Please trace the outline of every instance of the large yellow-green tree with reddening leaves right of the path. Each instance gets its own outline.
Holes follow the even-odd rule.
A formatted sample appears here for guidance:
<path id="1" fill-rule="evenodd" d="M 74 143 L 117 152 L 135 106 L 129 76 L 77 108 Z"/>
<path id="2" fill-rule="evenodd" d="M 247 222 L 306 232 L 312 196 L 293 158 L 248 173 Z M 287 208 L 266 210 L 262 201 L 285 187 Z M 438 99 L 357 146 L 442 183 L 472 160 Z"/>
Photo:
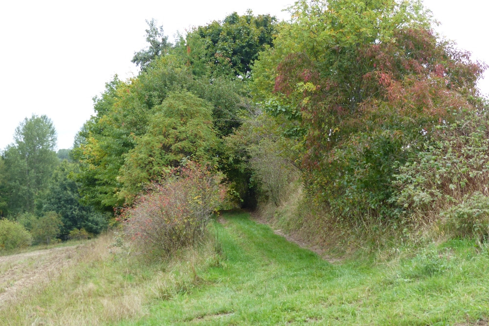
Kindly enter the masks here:
<path id="1" fill-rule="evenodd" d="M 417 0 L 301 0 L 290 10 L 255 63 L 254 93 L 302 129 L 311 195 L 346 219 L 387 218 L 397 166 L 453 120 L 447 109 L 478 105 L 485 65 L 439 41 Z"/>

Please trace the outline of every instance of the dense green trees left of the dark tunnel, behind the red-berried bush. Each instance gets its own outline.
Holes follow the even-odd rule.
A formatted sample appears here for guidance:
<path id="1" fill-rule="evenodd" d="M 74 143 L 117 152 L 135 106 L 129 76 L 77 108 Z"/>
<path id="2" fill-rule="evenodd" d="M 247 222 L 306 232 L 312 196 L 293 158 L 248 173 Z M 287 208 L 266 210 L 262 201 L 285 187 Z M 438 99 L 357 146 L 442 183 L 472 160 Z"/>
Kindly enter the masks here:
<path id="1" fill-rule="evenodd" d="M 237 76 L 271 45 L 274 24 L 270 16 L 234 13 L 165 47 L 136 78 L 108 83 L 74 148 L 84 201 L 111 210 L 183 158 L 224 168 L 221 139 L 250 107 Z M 148 33 L 152 39 L 156 30 Z"/>

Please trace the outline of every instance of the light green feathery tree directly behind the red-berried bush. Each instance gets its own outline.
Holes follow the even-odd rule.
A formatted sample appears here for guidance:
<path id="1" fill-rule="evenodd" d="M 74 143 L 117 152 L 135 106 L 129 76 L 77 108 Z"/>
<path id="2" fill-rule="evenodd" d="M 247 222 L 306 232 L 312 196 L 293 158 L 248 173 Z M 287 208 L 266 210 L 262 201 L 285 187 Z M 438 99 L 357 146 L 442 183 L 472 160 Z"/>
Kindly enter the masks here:
<path id="1" fill-rule="evenodd" d="M 148 131 L 125 155 L 119 180 L 126 201 L 144 184 L 157 181 L 183 159 L 216 161 L 218 138 L 212 127 L 212 105 L 189 92 L 171 93 L 150 118 Z"/>

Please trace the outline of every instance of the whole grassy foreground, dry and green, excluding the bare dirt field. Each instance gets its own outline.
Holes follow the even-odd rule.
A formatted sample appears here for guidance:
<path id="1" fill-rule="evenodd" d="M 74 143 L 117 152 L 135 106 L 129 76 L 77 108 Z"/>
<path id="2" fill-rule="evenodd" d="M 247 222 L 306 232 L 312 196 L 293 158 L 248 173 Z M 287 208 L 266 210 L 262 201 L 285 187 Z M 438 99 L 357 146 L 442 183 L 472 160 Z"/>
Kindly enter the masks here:
<path id="1" fill-rule="evenodd" d="M 487 325 L 489 246 L 330 264 L 247 213 L 223 218 L 206 246 L 173 262 L 111 253 L 109 236 L 81 245 L 59 276 L 0 308 L 0 324 Z"/>

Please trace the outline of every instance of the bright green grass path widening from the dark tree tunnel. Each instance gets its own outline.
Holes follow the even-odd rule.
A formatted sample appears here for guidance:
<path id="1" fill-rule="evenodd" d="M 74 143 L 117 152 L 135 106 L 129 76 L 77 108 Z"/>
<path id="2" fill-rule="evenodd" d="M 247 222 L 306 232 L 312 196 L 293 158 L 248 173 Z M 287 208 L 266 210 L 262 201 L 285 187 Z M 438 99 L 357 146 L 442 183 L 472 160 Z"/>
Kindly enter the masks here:
<path id="1" fill-rule="evenodd" d="M 222 264 L 120 325 L 487 325 L 489 254 L 470 242 L 332 265 L 247 213 L 223 217 Z"/>

